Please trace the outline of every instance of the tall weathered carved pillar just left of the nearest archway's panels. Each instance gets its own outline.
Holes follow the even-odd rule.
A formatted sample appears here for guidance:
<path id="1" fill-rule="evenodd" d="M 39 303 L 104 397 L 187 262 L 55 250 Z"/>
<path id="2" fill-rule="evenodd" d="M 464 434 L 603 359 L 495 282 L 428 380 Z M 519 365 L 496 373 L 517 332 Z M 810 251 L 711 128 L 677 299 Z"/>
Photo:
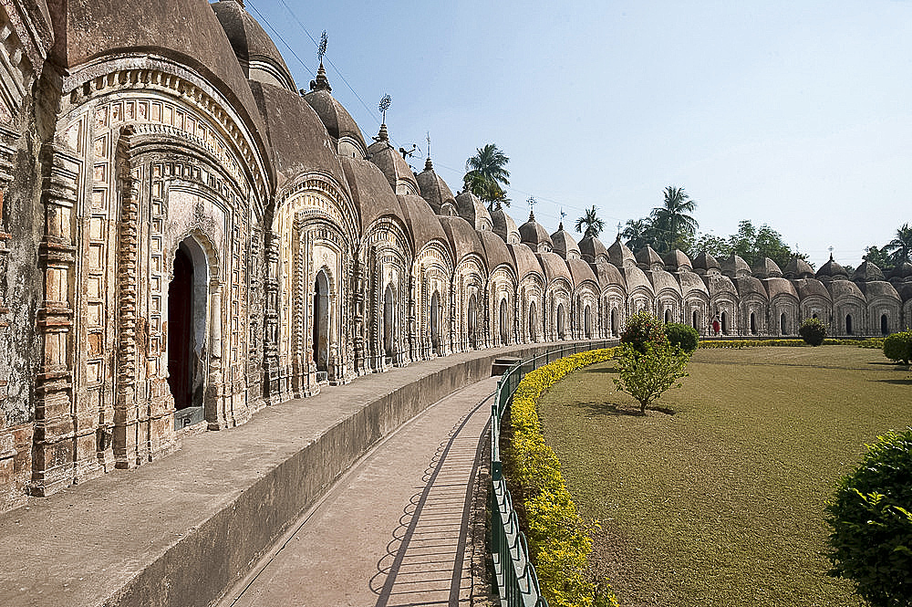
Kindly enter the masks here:
<path id="1" fill-rule="evenodd" d="M 73 402 L 73 269 L 76 246 L 72 220 L 78 191 L 78 159 L 52 144 L 42 149 L 45 235 L 38 247 L 44 300 L 37 310 L 39 365 L 35 377 L 35 434 L 29 493 L 47 496 L 74 480 L 74 462 L 96 460 L 92 414 Z M 86 413 L 83 415 L 83 413 Z M 80 428 L 80 424 L 83 426 Z M 88 434 L 90 433 L 90 435 Z"/>

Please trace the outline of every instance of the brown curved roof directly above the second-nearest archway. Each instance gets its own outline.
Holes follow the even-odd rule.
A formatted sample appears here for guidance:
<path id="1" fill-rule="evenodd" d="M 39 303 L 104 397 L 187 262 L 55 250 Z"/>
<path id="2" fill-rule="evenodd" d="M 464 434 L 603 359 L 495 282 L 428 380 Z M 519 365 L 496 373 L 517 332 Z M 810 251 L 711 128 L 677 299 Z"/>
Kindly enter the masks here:
<path id="1" fill-rule="evenodd" d="M 297 93 L 271 84 L 250 83 L 263 108 L 265 131 L 272 145 L 275 170 L 291 180 L 302 173 L 325 173 L 346 183 L 338 156 L 329 145 L 323 123 Z M 309 145 L 301 145 L 301 141 Z"/>

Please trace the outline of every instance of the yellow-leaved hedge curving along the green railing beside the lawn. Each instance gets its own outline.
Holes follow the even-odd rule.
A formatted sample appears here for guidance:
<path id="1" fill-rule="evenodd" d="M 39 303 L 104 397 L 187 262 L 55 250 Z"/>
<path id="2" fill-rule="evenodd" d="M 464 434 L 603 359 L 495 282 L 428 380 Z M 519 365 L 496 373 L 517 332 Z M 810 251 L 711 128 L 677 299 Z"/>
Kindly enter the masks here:
<path id="1" fill-rule="evenodd" d="M 567 373 L 614 355 L 615 349 L 607 348 L 554 361 L 528 373 L 513 394 L 513 441 L 503 455 L 513 480 L 522 487 L 529 549 L 542 593 L 552 607 L 617 606 L 617 597 L 588 573 L 592 540 L 566 488 L 557 455 L 544 443 L 536 405 Z"/>

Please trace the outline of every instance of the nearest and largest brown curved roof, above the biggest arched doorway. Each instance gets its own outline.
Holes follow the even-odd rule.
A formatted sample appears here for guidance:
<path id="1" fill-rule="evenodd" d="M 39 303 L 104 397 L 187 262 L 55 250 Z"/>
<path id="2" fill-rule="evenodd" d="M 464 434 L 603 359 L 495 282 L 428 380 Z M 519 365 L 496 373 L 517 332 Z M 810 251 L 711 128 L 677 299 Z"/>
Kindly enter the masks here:
<path id="1" fill-rule="evenodd" d="M 122 57 L 128 51 L 153 51 L 198 72 L 249 122 L 254 137 L 263 129 L 260 112 L 209 3 L 200 0 L 92 0 L 54 3 L 57 26 L 50 59 L 76 68 L 96 58 Z M 68 93 L 69 91 L 64 91 Z M 269 150 L 265 141 L 266 162 Z"/>

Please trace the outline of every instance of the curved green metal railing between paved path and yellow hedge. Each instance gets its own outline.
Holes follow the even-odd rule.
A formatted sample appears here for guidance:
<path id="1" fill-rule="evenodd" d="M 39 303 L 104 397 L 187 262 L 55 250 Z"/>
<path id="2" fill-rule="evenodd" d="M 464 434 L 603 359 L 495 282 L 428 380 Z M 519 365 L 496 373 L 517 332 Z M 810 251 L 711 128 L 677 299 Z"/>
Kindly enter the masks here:
<path id="1" fill-rule="evenodd" d="M 491 405 L 491 491 L 488 508 L 491 513 L 491 535 L 488 549 L 494 563 L 497 589 L 505 607 L 547 607 L 548 602 L 539 589 L 538 576 L 529 560 L 525 534 L 519 529 L 519 519 L 513 509 L 513 500 L 503 480 L 500 438 L 501 417 L 513 398 L 513 392 L 526 373 L 570 354 L 607 348 L 607 340 L 585 341 L 572 346 L 545 351 L 527 361 L 520 361 L 503 373 L 497 382 L 494 402 Z"/>

